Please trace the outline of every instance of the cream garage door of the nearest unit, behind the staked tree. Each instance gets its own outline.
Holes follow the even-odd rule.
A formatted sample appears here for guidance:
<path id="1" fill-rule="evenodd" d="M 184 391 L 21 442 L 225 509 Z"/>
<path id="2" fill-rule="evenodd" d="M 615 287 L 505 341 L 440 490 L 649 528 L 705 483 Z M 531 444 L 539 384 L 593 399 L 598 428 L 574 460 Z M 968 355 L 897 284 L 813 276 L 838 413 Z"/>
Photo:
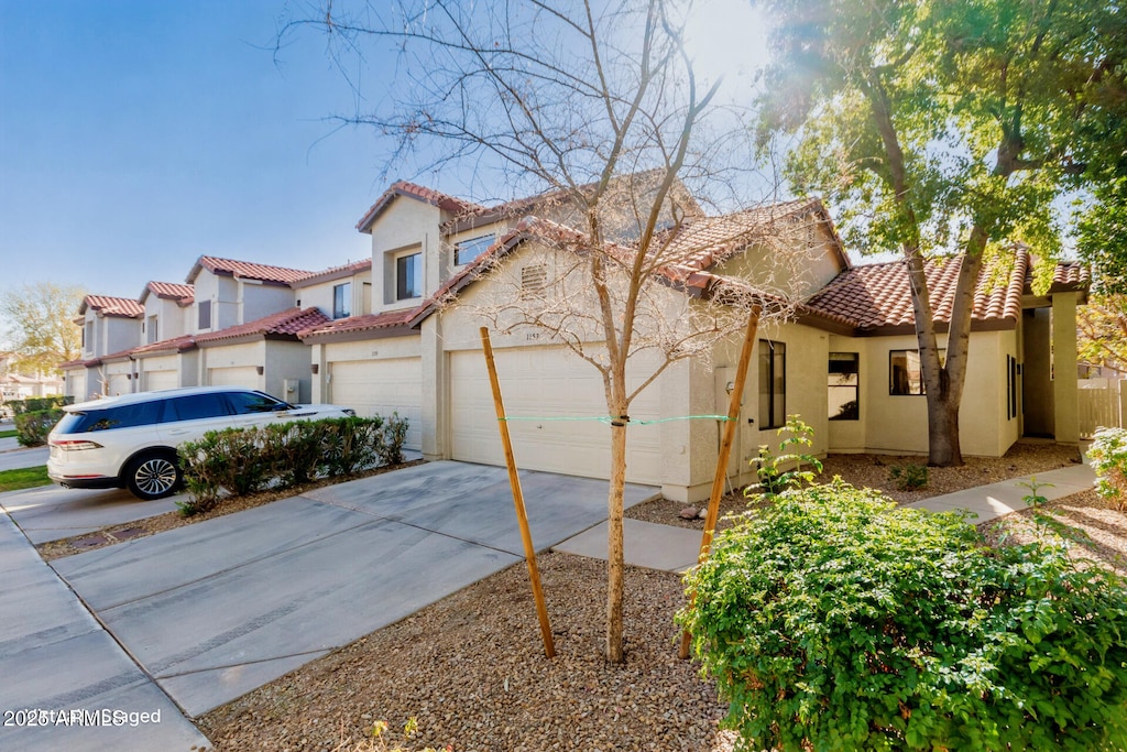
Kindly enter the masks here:
<path id="1" fill-rule="evenodd" d="M 495 351 L 516 465 L 589 478 L 610 477 L 611 428 L 598 421 L 559 418 L 606 415 L 598 372 L 564 347 Z M 504 465 L 497 413 L 480 352 L 451 354 L 451 454 L 455 460 Z M 658 417 L 660 396 L 651 384 L 630 409 L 632 419 Z M 556 418 L 556 419 L 553 419 Z M 627 479 L 662 481 L 660 426 L 636 425 L 627 434 Z"/>

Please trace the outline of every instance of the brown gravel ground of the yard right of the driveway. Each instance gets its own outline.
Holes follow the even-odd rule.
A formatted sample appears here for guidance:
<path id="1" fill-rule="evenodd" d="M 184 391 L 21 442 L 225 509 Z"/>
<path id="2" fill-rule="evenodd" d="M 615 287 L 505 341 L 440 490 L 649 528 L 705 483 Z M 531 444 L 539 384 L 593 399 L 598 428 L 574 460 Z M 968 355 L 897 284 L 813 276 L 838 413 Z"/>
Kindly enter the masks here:
<path id="1" fill-rule="evenodd" d="M 835 455 L 826 475 L 908 502 L 1074 460 L 1075 449 L 1018 444 L 1001 459 L 931 468 L 928 487 L 911 493 L 889 488 L 888 468 L 920 458 Z M 745 505 L 743 497 L 725 499 L 726 511 Z M 1100 541 L 1093 557 L 1127 560 L 1127 520 L 1094 494 L 1048 506 Z M 628 515 L 702 528 L 681 520 L 682 507 L 656 501 Z M 986 525 L 995 537 L 1032 530 L 1028 513 Z M 458 752 L 733 749 L 730 734 L 718 731 L 724 708 L 711 683 L 695 663 L 676 657 L 672 620 L 684 599 L 676 575 L 628 568 L 627 663 L 614 666 L 602 658 L 605 564 L 549 554 L 540 568 L 554 658 L 543 655 L 527 570 L 518 565 L 213 710 L 199 728 L 223 752 L 382 751 L 397 743 Z M 419 731 L 406 742 L 401 733 L 378 742 L 366 736 L 379 720 L 396 732 L 411 717 Z"/>

